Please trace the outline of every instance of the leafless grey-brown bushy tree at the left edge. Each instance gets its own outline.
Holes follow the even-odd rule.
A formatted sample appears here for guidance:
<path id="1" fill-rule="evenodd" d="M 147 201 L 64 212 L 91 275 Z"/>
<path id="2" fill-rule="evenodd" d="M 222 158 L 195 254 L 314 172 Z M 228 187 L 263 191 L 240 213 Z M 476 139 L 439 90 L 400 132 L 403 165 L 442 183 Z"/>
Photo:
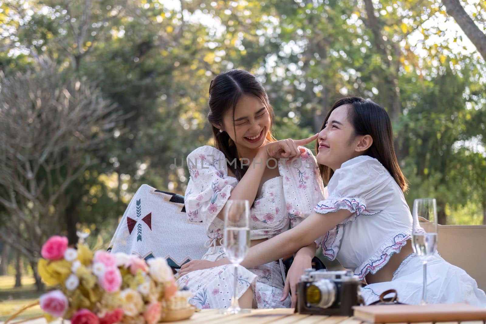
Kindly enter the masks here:
<path id="1" fill-rule="evenodd" d="M 0 72 L 0 82 L 0 204 L 12 215 L 4 240 L 32 263 L 61 230 L 59 198 L 98 162 L 122 117 L 86 79 L 65 81 L 53 67 Z"/>

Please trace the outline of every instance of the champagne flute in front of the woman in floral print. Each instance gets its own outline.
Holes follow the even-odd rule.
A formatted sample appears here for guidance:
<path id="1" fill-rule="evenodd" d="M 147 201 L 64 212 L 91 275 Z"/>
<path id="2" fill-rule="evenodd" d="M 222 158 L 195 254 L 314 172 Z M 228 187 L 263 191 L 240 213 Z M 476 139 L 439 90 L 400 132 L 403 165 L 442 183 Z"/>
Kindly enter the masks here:
<path id="1" fill-rule="evenodd" d="M 250 247 L 250 206 L 247 200 L 229 200 L 225 206 L 224 246 L 226 257 L 235 267 L 235 281 L 231 306 L 225 314 L 247 313 L 238 303 L 238 266 L 243 261 Z"/>

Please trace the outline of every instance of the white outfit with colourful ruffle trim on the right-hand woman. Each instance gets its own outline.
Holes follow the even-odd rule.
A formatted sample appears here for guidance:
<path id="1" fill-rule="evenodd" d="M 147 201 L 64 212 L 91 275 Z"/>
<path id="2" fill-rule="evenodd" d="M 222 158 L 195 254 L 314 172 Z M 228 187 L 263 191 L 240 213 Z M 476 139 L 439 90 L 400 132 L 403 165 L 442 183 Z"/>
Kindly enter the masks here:
<path id="1" fill-rule="evenodd" d="M 347 209 L 352 215 L 322 238 L 324 256 L 337 258 L 360 279 L 377 273 L 412 237 L 413 219 L 403 192 L 382 164 L 370 156 L 343 163 L 327 189 L 329 196 L 314 210 L 327 214 Z M 464 270 L 438 254 L 428 259 L 427 267 L 431 304 L 467 302 L 486 307 L 485 292 Z M 412 253 L 400 264 L 392 281 L 367 285 L 361 294 L 367 305 L 377 301 L 383 291 L 395 289 L 400 302 L 420 304 L 422 279 L 422 261 Z"/>

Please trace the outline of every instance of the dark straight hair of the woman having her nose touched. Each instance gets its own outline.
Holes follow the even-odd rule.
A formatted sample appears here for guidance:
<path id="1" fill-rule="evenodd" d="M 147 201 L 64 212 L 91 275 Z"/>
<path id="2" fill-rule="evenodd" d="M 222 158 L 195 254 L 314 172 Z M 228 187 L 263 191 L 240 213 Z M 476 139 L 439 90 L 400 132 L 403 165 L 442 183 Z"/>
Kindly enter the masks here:
<path id="1" fill-rule="evenodd" d="M 355 136 L 369 135 L 373 138 L 373 144 L 364 153 L 374 157 L 390 172 L 402 191 L 408 188 L 407 179 L 401 173 L 400 166 L 393 147 L 393 131 L 390 118 L 385 109 L 378 103 L 361 97 L 347 97 L 339 99 L 332 105 L 326 119 L 321 126 L 321 131 L 328 122 L 331 112 L 339 106 L 348 104 L 352 108 L 348 109 L 347 119 L 354 128 Z M 316 142 L 316 152 L 319 143 Z M 328 166 L 319 165 L 324 183 L 329 183 L 334 171 Z"/>

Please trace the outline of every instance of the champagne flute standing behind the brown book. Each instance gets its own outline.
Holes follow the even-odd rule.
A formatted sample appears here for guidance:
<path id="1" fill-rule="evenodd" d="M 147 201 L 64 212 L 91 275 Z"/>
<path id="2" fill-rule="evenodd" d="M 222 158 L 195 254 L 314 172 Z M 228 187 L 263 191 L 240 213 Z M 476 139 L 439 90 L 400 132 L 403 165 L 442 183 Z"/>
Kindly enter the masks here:
<path id="1" fill-rule="evenodd" d="M 422 227 L 419 217 L 425 219 Z M 427 297 L 427 259 L 437 248 L 437 206 L 435 199 L 416 199 L 413 209 L 412 247 L 423 262 L 422 305 L 429 303 Z"/>

